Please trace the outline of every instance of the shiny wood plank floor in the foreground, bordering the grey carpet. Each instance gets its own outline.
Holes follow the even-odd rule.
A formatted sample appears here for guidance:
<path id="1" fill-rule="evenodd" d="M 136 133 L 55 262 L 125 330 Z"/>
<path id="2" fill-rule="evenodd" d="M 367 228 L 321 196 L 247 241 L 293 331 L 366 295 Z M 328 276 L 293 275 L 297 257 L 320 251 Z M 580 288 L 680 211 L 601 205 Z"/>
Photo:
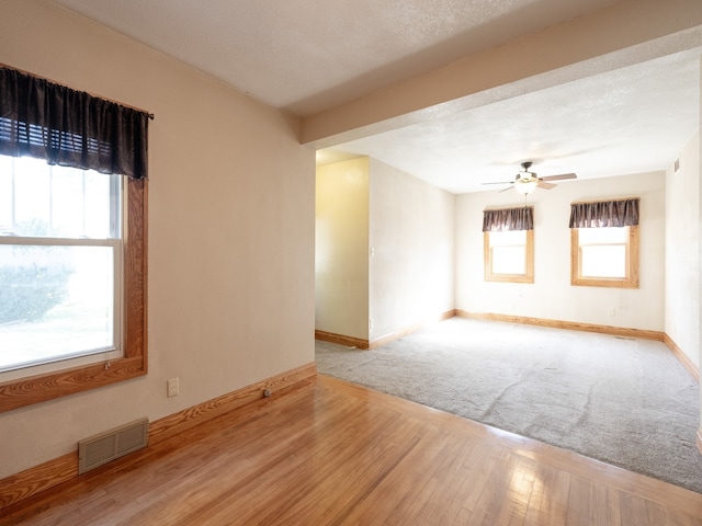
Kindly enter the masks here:
<path id="1" fill-rule="evenodd" d="M 702 495 L 322 375 L 0 525 L 700 525 Z"/>

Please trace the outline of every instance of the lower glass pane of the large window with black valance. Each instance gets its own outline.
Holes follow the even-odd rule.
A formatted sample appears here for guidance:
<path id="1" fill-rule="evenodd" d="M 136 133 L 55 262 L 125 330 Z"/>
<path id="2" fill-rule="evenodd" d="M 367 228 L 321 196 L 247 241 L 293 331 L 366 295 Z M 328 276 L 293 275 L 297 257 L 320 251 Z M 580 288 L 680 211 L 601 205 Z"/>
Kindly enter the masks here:
<path id="1" fill-rule="evenodd" d="M 114 250 L 0 244 L 0 370 L 114 348 Z"/>

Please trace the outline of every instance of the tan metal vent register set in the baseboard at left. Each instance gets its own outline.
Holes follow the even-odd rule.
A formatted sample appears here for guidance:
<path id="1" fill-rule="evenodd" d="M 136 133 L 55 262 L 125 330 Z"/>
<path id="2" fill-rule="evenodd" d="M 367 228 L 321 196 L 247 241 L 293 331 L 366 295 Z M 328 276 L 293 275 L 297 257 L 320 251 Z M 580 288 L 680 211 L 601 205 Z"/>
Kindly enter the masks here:
<path id="1" fill-rule="evenodd" d="M 78 473 L 146 447 L 149 419 L 137 420 L 78 443 Z"/>

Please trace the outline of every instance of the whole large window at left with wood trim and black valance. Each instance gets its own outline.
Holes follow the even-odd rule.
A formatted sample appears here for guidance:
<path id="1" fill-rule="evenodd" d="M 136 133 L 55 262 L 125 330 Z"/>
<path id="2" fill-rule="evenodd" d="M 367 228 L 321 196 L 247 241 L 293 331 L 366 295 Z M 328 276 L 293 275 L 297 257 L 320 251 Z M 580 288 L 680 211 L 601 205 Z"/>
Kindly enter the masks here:
<path id="1" fill-rule="evenodd" d="M 146 374 L 150 116 L 1 67 L 0 96 L 9 411 Z"/>

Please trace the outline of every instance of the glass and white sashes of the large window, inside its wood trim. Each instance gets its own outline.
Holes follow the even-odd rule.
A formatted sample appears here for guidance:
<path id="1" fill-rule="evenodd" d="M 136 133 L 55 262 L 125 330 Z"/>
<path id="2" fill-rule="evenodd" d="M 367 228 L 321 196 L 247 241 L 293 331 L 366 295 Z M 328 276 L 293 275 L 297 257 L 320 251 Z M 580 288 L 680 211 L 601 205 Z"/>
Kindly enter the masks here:
<path id="1" fill-rule="evenodd" d="M 122 356 L 121 183 L 0 156 L 3 380 Z"/>

